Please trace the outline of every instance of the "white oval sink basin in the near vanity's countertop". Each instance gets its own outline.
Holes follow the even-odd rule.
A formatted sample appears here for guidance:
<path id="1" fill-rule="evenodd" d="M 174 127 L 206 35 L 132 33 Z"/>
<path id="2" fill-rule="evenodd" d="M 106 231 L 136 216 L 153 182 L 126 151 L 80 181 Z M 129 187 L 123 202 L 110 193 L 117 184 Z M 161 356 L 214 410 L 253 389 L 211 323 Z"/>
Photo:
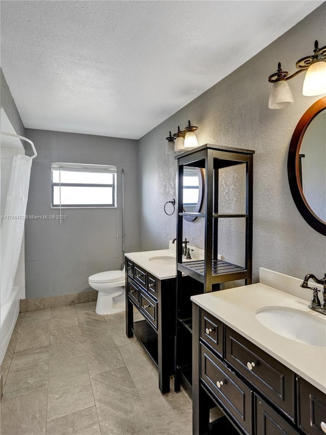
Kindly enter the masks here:
<path id="1" fill-rule="evenodd" d="M 256 319 L 282 337 L 310 344 L 326 346 L 326 321 L 287 307 L 264 307 L 256 312 Z"/>

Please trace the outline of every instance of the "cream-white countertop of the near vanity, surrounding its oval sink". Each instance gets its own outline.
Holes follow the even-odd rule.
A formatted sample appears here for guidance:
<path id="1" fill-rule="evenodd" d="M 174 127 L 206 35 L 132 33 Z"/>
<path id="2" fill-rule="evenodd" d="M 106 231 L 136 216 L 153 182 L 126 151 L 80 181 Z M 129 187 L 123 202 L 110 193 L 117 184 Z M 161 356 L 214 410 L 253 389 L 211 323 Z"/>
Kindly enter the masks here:
<path id="1" fill-rule="evenodd" d="M 192 296 L 191 300 L 267 354 L 326 393 L 326 347 L 284 338 L 264 327 L 255 313 L 264 307 L 288 307 L 317 316 L 307 301 L 258 283 Z"/>

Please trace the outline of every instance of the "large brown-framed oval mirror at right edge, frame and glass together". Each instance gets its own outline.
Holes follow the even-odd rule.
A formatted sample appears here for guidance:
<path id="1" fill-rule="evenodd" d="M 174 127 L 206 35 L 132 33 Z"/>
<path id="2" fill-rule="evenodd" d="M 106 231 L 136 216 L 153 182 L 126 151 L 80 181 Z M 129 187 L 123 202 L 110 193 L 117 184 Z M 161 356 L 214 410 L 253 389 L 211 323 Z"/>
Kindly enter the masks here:
<path id="1" fill-rule="evenodd" d="M 326 97 L 309 107 L 295 127 L 287 169 L 297 209 L 312 228 L 326 235 Z"/>

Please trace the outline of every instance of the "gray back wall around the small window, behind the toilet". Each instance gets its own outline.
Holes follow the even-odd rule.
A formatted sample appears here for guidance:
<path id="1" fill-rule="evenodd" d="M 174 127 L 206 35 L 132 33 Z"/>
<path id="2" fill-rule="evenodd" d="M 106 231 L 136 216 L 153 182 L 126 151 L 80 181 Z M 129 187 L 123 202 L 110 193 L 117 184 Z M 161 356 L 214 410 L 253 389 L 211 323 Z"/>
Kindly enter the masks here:
<path id="1" fill-rule="evenodd" d="M 125 172 L 125 250 L 139 249 L 137 141 L 26 129 L 34 142 L 28 215 L 59 214 L 50 208 L 51 162 L 117 166 L 117 209 L 62 209 L 62 221 L 25 222 L 26 298 L 89 289 L 88 277 L 122 265 L 121 169 Z M 118 234 L 116 239 L 116 223 Z M 117 254 L 119 258 L 117 257 Z"/>

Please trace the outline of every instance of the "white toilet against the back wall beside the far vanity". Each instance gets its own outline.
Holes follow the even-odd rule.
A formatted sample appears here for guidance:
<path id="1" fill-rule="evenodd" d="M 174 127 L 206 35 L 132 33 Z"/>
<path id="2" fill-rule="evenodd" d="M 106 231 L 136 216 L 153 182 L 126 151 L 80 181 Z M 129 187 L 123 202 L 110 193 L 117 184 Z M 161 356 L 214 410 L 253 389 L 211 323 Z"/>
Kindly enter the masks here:
<path id="1" fill-rule="evenodd" d="M 90 287 L 98 291 L 95 309 L 97 314 L 125 311 L 125 268 L 92 275 L 88 282 Z"/>

